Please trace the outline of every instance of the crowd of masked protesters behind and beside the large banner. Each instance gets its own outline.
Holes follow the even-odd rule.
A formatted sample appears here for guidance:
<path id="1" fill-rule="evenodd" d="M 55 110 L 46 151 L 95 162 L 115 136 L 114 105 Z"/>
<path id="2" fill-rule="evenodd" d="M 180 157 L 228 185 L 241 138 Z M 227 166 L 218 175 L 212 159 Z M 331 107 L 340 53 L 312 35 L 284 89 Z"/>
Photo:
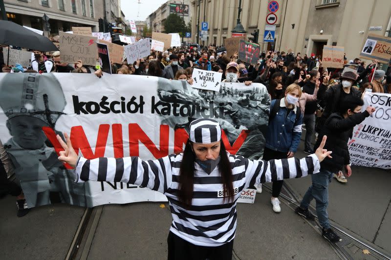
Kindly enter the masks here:
<path id="1" fill-rule="evenodd" d="M 351 174 L 350 164 L 347 160 L 348 137 L 351 135 L 352 127 L 373 112 L 372 109 L 367 109 L 366 112 L 360 113 L 363 105 L 362 96 L 365 92 L 391 93 L 390 66 L 386 72 L 377 69 L 377 60 L 366 65 L 359 58 L 349 61 L 344 58 L 345 66 L 349 69 L 331 69 L 323 67 L 321 57 L 317 57 L 315 54 L 307 57 L 305 54 L 284 51 L 261 52 L 258 62 L 251 65 L 239 60 L 238 53 L 228 56 L 226 51 L 223 51 L 224 48 L 221 47 L 223 46 L 201 48 L 194 44 L 173 47 L 164 52 L 152 50 L 150 56 L 134 63 L 130 64 L 126 60 L 121 64 L 113 63 L 112 73 L 185 80 L 192 85 L 192 73 L 197 68 L 221 72 L 224 82 L 242 82 L 245 85 L 264 84 L 272 100 L 268 133 L 265 137 L 264 160 L 293 157 L 298 150 L 302 129 L 305 129 L 304 152 L 306 154 L 313 154 L 319 146 L 320 139 L 316 139 L 316 136 L 323 136 L 325 133 L 330 136 L 334 133 L 340 134 L 330 138 L 328 143 L 326 142 L 326 146 L 327 149 L 335 152 L 334 147 L 330 144 L 330 142 L 335 142 L 333 144 L 337 149 L 336 154 L 343 158 L 342 162 L 336 159 L 331 161 L 337 161 L 334 166 L 338 165 L 338 167 L 329 167 L 330 161 L 327 159 L 321 164 L 326 172 L 324 174 L 326 179 L 320 180 L 317 174 L 316 178 L 318 179 L 314 180 L 313 178 L 313 185 L 307 191 L 305 201 L 296 209 L 298 214 L 313 219 L 307 208 L 309 201 L 315 198 L 318 218 L 323 221 L 321 222 L 324 228 L 323 236 L 332 242 L 339 241 L 338 235 L 330 229 L 326 220 L 328 199 L 321 201 L 318 198 L 322 198 L 327 192 L 328 181 L 332 177 L 340 182 L 347 182 L 345 175 L 350 176 Z M 4 64 L 2 72 L 95 73 L 98 77 L 104 76 L 99 67 L 86 66 L 81 60 L 74 64 L 62 62 L 59 51 L 51 53 L 50 56 L 41 51 L 34 51 L 34 57 L 35 60 L 28 68 L 23 68 L 19 64 L 14 66 Z M 1 63 L 5 62 L 0 60 Z M 356 116 L 358 114 L 359 116 Z M 339 120 L 345 125 L 343 129 L 335 127 L 334 121 Z M 5 157 L 5 155 L 2 156 Z M 346 172 L 345 175 L 343 170 Z M 317 188 L 319 182 L 324 183 L 322 187 L 326 187 L 326 189 L 319 190 Z M 282 180 L 273 182 L 271 204 L 275 212 L 281 212 L 278 198 L 282 183 Z M 9 184 L 8 181 L 6 184 Z M 6 191 L 6 189 L 4 190 Z M 1 188 L 2 193 L 4 190 Z M 261 186 L 257 190 L 261 193 Z M 18 205 L 23 211 L 21 191 L 12 186 L 11 194 L 18 196 Z M 25 213 L 24 207 L 23 214 Z"/>

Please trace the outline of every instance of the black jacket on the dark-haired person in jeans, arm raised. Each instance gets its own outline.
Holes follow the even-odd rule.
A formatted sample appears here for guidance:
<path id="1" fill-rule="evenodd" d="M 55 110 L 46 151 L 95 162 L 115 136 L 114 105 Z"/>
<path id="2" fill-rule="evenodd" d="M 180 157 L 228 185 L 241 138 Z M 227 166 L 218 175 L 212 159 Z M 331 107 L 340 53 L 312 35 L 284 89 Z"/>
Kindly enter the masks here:
<path id="1" fill-rule="evenodd" d="M 331 114 L 325 122 L 325 125 L 318 136 L 314 149 L 317 149 L 323 139 L 327 136 L 325 148 L 332 151 L 331 157 L 321 162 L 321 168 L 334 173 L 342 170 L 344 165 L 350 163 L 348 140 L 352 136 L 352 129 L 355 125 L 361 123 L 369 113 L 364 111 L 356 113 L 348 118 L 344 118 L 340 113 Z"/>

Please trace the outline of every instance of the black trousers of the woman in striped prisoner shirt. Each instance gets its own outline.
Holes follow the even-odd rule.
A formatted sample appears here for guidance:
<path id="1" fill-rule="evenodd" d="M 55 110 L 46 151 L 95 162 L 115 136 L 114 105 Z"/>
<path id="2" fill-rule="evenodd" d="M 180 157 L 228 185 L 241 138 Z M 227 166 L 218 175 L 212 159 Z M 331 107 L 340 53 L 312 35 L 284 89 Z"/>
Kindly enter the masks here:
<path id="1" fill-rule="evenodd" d="M 234 240 L 220 246 L 194 245 L 170 231 L 167 238 L 168 260 L 232 260 Z"/>

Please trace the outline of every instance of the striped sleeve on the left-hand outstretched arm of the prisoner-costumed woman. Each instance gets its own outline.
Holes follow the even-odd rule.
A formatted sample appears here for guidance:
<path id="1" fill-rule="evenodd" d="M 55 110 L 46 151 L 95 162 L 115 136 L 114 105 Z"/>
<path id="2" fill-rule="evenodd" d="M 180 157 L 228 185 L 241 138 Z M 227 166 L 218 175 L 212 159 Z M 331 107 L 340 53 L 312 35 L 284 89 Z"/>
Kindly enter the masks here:
<path id="1" fill-rule="evenodd" d="M 75 175 L 76 182 L 87 180 L 125 182 L 164 193 L 167 190 L 167 180 L 171 180 L 172 170 L 169 156 L 146 161 L 139 157 L 103 157 L 92 160 L 80 157 L 76 164 Z"/>

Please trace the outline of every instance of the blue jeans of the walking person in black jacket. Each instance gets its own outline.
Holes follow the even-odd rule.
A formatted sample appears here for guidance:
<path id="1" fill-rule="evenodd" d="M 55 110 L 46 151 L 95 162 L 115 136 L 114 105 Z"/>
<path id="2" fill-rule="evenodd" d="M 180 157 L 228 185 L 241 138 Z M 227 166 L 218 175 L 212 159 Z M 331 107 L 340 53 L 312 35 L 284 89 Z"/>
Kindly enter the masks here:
<path id="1" fill-rule="evenodd" d="M 331 171 L 323 170 L 317 174 L 312 174 L 312 185 L 309 186 L 307 192 L 304 194 L 300 207 L 307 209 L 312 199 L 316 200 L 316 214 L 320 225 L 324 229 L 330 228 L 328 221 L 327 206 L 328 206 L 328 183 L 331 182 L 333 173 Z"/>

